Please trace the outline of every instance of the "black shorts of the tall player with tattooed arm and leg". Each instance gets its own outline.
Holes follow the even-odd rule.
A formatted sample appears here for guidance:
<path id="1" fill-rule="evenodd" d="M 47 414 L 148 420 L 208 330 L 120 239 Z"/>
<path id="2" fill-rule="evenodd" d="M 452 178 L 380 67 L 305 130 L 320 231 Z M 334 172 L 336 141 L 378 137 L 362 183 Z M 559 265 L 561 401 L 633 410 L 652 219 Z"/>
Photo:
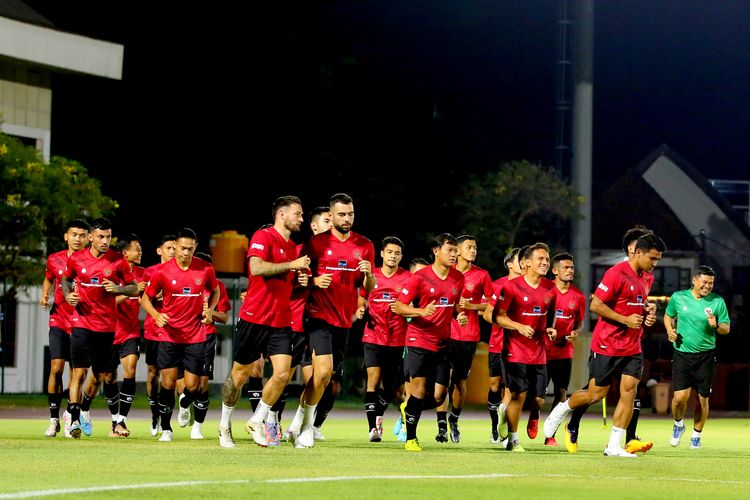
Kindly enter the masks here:
<path id="1" fill-rule="evenodd" d="M 240 320 L 234 335 L 234 362 L 249 365 L 261 356 L 292 355 L 292 330 L 289 327 L 257 325 Z"/>

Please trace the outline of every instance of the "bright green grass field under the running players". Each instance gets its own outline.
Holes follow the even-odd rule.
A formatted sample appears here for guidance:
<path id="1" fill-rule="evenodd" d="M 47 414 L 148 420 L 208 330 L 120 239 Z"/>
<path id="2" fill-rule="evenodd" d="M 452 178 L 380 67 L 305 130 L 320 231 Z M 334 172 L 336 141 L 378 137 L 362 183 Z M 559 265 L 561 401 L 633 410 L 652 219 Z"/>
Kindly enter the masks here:
<path id="1" fill-rule="evenodd" d="M 571 455 L 543 446 L 541 432 L 534 441 L 523 435 L 526 453 L 502 451 L 487 443 L 489 424 L 479 414 L 461 420 L 460 444 L 438 444 L 433 412 L 420 423 L 424 452 L 409 453 L 389 432 L 392 417 L 385 440 L 369 443 L 363 416 L 340 418 L 335 410 L 324 427 L 327 440 L 314 448 L 262 449 L 241 430 L 245 413 L 235 417 L 234 450 L 219 447 L 216 419 L 204 426 L 206 440 L 191 441 L 189 429 L 176 428 L 172 443 L 156 442 L 140 419 L 128 420 L 130 438 L 107 437 L 107 422 L 98 419 L 93 436 L 76 441 L 43 437 L 43 419 L 0 420 L 0 499 L 750 496 L 748 419 L 709 420 L 704 448 L 689 450 L 687 439 L 679 448 L 667 444 L 669 418 L 643 418 L 639 433 L 654 439 L 654 448 L 621 459 L 602 456 L 609 427 L 594 415 L 583 421 L 581 450 Z"/>

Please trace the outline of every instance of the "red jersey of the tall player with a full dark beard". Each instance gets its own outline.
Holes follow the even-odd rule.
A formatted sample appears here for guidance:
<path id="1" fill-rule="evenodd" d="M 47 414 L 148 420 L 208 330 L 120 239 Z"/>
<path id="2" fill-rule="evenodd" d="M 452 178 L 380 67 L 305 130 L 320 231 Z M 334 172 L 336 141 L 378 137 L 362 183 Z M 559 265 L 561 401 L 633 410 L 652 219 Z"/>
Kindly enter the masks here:
<path id="1" fill-rule="evenodd" d="M 306 313 L 339 328 L 351 328 L 357 311 L 357 288 L 362 286 L 364 274 L 359 261 L 370 262 L 375 269 L 375 247 L 364 236 L 353 231 L 341 241 L 332 231 L 316 234 L 302 247 L 302 254 L 310 257 L 313 276 L 331 274 L 328 288 L 313 286 L 307 300 Z"/>

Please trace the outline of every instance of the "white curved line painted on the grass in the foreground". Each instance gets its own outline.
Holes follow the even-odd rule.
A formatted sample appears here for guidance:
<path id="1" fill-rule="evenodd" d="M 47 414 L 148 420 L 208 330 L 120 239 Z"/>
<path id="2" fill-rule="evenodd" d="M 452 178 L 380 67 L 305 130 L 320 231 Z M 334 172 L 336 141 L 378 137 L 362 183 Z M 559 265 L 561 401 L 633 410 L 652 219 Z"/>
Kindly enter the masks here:
<path id="1" fill-rule="evenodd" d="M 121 491 L 121 490 L 140 490 L 149 488 L 173 488 L 175 486 L 205 486 L 214 484 L 280 484 L 280 483 L 320 483 L 334 481 L 365 481 L 365 480 L 401 480 L 401 479 L 507 479 L 512 477 L 529 477 L 529 478 L 568 478 L 568 479 L 600 479 L 600 480 L 651 480 L 651 481 L 673 481 L 684 483 L 703 483 L 703 484 L 739 484 L 750 485 L 750 481 L 731 481 L 724 479 L 694 479 L 681 477 L 613 477 L 613 476 L 585 476 L 576 474 L 466 474 L 466 475 L 391 475 L 391 476 L 323 476 L 323 477 L 291 477 L 280 479 L 234 479 L 225 481 L 180 481 L 172 483 L 144 483 L 144 484 L 120 484 L 111 486 L 92 486 L 89 488 L 67 488 L 54 490 L 32 490 L 17 491 L 14 493 L 0 493 L 0 499 L 4 498 L 33 498 L 45 497 L 52 495 L 74 495 L 77 493 L 94 493 L 101 491 Z"/>

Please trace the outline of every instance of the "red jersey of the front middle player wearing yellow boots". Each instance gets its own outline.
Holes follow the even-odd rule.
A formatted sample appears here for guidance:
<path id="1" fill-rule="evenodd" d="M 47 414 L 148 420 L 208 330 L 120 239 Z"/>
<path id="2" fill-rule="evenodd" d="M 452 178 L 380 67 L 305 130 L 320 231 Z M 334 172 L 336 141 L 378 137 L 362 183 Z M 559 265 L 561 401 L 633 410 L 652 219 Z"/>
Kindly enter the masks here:
<path id="1" fill-rule="evenodd" d="M 398 301 L 403 304 L 415 302 L 415 307 L 425 308 L 435 302 L 437 309 L 430 316 L 412 318 L 406 329 L 407 347 L 419 347 L 437 352 L 451 335 L 451 321 L 456 304 L 464 288 L 464 275 L 453 268 L 441 279 L 432 266 L 420 269 L 412 275 L 401 290 Z"/>

